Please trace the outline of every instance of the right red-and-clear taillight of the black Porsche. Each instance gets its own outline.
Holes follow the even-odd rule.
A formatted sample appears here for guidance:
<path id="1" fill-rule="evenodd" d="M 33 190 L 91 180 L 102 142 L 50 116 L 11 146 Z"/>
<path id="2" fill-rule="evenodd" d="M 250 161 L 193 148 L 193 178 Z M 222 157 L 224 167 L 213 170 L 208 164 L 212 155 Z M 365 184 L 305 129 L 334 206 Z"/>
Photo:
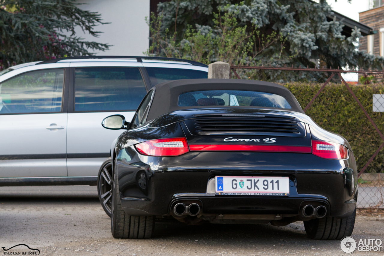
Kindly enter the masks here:
<path id="1" fill-rule="evenodd" d="M 312 154 L 328 159 L 346 159 L 348 157 L 348 149 L 339 143 L 313 140 Z"/>

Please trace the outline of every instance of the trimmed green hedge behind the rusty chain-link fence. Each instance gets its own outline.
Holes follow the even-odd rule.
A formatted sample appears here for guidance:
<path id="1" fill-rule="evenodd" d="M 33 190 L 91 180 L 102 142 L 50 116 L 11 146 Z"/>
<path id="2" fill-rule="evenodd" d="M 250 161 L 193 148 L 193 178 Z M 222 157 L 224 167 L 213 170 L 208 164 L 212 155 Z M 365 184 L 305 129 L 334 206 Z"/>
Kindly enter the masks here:
<path id="1" fill-rule="evenodd" d="M 321 87 L 321 84 L 318 83 L 295 82 L 283 85 L 295 95 L 303 109 Z M 372 111 L 372 94 L 384 94 L 384 86 L 351 85 L 351 88 L 379 130 L 384 133 L 384 114 Z M 322 128 L 338 133 L 349 141 L 358 170 L 361 170 L 383 143 L 371 122 L 343 84 L 328 84 L 306 114 Z M 384 172 L 384 150 L 381 150 L 374 158 L 366 172 Z"/>

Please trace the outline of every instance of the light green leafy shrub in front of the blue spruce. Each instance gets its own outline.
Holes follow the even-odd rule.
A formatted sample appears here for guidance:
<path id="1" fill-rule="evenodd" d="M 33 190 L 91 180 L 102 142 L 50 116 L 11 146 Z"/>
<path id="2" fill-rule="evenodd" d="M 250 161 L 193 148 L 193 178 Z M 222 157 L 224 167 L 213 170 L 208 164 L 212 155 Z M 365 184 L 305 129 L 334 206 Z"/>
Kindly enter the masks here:
<path id="1" fill-rule="evenodd" d="M 275 31 L 265 35 L 257 30 L 257 25 L 240 25 L 237 19 L 238 10 L 231 10 L 230 5 L 218 7 L 213 13 L 213 27 L 196 25 L 196 29 L 187 25 L 182 38 L 177 31 L 169 28 L 162 30 L 160 15 L 151 15 L 151 22 L 146 19 L 150 33 L 151 45 L 146 55 L 184 58 L 209 64 L 215 61 L 227 62 L 230 65 L 271 64 L 286 59 L 284 55 L 285 37 Z M 274 53 L 278 50 L 278 52 Z"/>

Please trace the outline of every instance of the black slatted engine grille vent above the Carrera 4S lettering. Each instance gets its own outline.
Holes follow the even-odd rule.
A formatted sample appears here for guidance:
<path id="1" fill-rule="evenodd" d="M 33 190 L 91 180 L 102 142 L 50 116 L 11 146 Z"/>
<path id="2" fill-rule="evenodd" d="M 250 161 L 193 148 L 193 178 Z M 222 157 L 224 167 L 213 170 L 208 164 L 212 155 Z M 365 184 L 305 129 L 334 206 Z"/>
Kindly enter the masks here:
<path id="1" fill-rule="evenodd" d="M 210 117 L 193 120 L 196 131 L 227 132 L 227 131 L 253 131 L 300 133 L 298 122 L 289 117 Z"/>

